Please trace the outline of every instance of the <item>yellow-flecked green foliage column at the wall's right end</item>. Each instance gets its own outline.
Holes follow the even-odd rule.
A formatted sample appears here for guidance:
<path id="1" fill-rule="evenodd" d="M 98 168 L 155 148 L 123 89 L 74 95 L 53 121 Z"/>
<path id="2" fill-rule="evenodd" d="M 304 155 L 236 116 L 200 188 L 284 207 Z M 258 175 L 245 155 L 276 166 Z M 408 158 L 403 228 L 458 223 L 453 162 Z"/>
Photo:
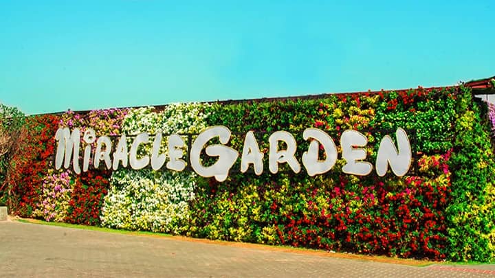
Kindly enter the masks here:
<path id="1" fill-rule="evenodd" d="M 495 258 L 495 162 L 489 123 L 461 87 L 456 107 L 450 167 L 452 197 L 446 211 L 449 257 L 454 261 L 490 262 Z"/>

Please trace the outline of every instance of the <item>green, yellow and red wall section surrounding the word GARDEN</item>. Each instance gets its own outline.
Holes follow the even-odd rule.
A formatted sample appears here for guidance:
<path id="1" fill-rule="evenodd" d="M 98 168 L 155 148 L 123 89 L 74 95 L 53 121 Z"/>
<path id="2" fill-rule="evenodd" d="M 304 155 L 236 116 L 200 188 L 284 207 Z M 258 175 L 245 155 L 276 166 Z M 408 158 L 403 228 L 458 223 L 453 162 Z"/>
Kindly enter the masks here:
<path id="1" fill-rule="evenodd" d="M 239 173 L 238 161 L 223 183 L 201 178 L 191 202 L 194 212 L 187 234 L 357 253 L 445 258 L 446 230 L 442 223 L 450 185 L 445 164 L 449 154 L 420 159 L 420 176 L 349 176 L 341 170 L 345 161 L 338 159 L 327 174 L 309 177 L 304 170 L 294 174 L 287 165 L 281 165 L 278 174 L 270 174 L 267 150 L 270 134 L 287 130 L 298 141 L 296 158 L 300 161 L 308 146 L 301 138 L 305 128 L 327 130 L 337 143 L 341 132 L 352 128 L 368 137 L 366 160 L 373 162 L 381 138 L 394 128 L 405 127 L 419 130 L 423 141 L 415 148 L 445 153 L 452 146 L 446 139 L 453 134 L 455 101 L 450 93 L 452 90 L 428 94 L 412 91 L 408 95 L 332 95 L 318 100 L 213 105 L 208 126 L 223 125 L 241 132 L 231 139 L 232 148 L 242 150 L 243 135 L 248 130 L 261 132 L 257 139 L 265 153 L 265 172 L 261 176 Z M 388 102 L 395 105 L 389 106 Z M 438 111 L 441 106 L 448 109 L 436 119 L 438 113 L 433 109 Z M 432 135 L 437 133 L 445 142 L 435 141 Z"/>

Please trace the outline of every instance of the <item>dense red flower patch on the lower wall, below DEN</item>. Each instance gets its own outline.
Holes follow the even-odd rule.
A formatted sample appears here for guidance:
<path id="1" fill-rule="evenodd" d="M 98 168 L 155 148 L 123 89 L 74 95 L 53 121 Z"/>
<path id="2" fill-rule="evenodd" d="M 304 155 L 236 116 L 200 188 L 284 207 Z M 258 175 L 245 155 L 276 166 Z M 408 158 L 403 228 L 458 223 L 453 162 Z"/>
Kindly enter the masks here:
<path id="1" fill-rule="evenodd" d="M 393 189 L 376 180 L 362 190 L 334 187 L 325 192 L 329 209 L 312 200 L 309 211 L 292 212 L 276 223 L 283 244 L 333 251 L 444 259 L 447 245 L 443 211 L 450 189 L 412 176 L 408 187 Z M 373 198 L 370 198 L 373 196 Z M 353 203 L 362 205 L 356 207 Z M 276 203 L 270 207 L 278 213 Z"/>

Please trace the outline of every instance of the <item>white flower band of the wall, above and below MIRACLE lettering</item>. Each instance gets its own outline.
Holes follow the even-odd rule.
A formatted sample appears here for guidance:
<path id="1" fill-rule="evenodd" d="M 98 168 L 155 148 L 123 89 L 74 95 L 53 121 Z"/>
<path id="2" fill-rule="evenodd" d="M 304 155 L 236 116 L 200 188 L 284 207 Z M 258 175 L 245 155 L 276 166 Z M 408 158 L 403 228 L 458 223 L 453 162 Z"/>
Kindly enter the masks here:
<path id="1" fill-rule="evenodd" d="M 170 104 L 161 113 L 153 107 L 129 111 L 122 124 L 126 135 L 195 133 L 206 128 L 208 104 Z M 153 139 L 151 139 L 152 141 Z M 151 149 L 151 148 L 149 148 Z M 148 147 L 140 153 L 149 152 Z M 183 171 L 122 169 L 113 172 L 100 216 L 102 226 L 179 234 L 188 227 L 189 202 L 196 174 Z"/>

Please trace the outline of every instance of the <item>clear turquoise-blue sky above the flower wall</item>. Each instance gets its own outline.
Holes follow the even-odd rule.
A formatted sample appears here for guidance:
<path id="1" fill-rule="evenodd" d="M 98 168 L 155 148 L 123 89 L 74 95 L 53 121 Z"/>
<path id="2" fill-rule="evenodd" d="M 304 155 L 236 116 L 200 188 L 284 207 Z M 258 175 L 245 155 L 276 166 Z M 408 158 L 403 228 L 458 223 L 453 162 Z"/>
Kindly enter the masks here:
<path id="1" fill-rule="evenodd" d="M 0 102 L 34 114 L 451 85 L 495 76 L 494 49 L 493 0 L 3 0 Z"/>

